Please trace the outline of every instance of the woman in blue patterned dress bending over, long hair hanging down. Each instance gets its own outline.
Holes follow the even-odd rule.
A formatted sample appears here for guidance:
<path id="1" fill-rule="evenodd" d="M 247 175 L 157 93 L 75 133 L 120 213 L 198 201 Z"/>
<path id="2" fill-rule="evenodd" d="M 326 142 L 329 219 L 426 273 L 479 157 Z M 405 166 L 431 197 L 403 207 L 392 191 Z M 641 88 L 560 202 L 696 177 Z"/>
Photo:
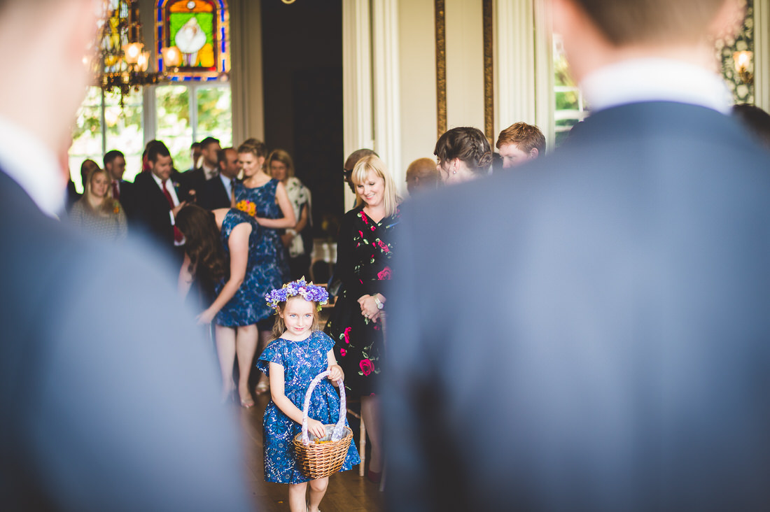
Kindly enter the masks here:
<path id="1" fill-rule="evenodd" d="M 199 206 L 185 206 L 176 216 L 176 226 L 185 235 L 185 259 L 179 271 L 182 295 L 196 276 L 214 284 L 216 299 L 200 313 L 198 321 L 204 324 L 216 319 L 214 336 L 223 399 L 234 390 L 233 362 L 237 356 L 240 403 L 253 407 L 249 373 L 259 339 L 256 324 L 272 316 L 263 296 L 282 283 L 275 252 L 263 250 L 260 244 L 265 229 L 239 209 L 208 212 Z"/>

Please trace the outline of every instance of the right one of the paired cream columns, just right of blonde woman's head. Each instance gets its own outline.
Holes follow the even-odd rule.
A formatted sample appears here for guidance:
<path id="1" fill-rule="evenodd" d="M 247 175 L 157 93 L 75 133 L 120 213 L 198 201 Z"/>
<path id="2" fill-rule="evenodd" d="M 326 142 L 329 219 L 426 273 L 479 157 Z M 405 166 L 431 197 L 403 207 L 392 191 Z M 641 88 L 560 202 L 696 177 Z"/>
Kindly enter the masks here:
<path id="1" fill-rule="evenodd" d="M 373 0 L 374 150 L 396 183 L 406 179 L 401 163 L 401 102 L 398 0 Z"/>

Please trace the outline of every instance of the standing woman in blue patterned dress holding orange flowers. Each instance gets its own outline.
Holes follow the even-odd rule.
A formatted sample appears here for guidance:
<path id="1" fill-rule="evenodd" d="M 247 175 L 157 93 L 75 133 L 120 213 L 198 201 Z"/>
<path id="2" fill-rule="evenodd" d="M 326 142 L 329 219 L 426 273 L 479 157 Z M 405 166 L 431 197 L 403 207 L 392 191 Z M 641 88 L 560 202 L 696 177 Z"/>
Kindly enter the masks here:
<path id="1" fill-rule="evenodd" d="M 255 250 L 274 259 L 280 269 L 281 283 L 286 283 L 289 280 L 289 261 L 286 249 L 281 243 L 279 230 L 293 227 L 296 219 L 283 183 L 268 176 L 263 169 L 266 156 L 265 145 L 256 139 L 250 139 L 239 146 L 238 162 L 243 169 L 243 182 L 236 184 L 233 206 L 249 210 L 256 222 L 266 228 L 263 229 L 263 237 Z M 265 292 L 262 293 L 263 296 L 264 294 Z M 273 320 L 258 323 L 257 329 L 259 345 L 264 348 L 273 329 Z M 260 376 L 256 393 L 264 393 L 267 389 L 268 380 Z"/>

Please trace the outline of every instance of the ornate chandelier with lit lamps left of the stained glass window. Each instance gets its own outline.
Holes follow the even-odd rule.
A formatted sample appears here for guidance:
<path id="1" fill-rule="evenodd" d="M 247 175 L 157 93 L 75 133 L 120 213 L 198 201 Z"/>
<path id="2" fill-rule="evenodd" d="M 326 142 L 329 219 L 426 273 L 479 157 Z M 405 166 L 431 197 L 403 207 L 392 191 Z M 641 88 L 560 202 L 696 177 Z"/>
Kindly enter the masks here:
<path id="1" fill-rule="evenodd" d="M 104 92 L 126 95 L 144 85 L 159 82 L 159 74 L 149 72 L 149 51 L 142 42 L 139 0 L 104 0 L 100 19 L 99 48 L 94 72 Z"/>

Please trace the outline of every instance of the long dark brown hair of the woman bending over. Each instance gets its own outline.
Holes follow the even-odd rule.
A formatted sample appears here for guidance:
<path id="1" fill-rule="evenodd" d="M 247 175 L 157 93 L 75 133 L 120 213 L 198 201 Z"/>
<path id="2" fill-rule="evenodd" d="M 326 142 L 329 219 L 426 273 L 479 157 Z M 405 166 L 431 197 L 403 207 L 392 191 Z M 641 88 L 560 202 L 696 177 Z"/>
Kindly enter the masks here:
<path id="1" fill-rule="evenodd" d="M 176 227 L 185 236 L 184 250 L 196 275 L 210 283 L 225 276 L 225 251 L 219 239 L 214 214 L 196 205 L 188 205 L 176 214 Z"/>

